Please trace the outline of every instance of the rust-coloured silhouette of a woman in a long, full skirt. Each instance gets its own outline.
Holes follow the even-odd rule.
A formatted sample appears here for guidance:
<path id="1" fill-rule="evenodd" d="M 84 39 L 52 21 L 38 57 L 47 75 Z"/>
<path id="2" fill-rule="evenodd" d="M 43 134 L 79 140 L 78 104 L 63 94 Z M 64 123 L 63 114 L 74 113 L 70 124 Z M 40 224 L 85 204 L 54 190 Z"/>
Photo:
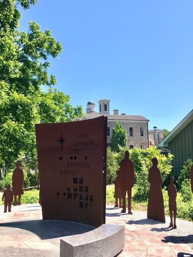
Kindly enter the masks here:
<path id="1" fill-rule="evenodd" d="M 148 182 L 150 183 L 147 218 L 166 222 L 162 194 L 162 176 L 157 168 L 157 158 L 152 159 L 153 166 L 149 170 Z"/>

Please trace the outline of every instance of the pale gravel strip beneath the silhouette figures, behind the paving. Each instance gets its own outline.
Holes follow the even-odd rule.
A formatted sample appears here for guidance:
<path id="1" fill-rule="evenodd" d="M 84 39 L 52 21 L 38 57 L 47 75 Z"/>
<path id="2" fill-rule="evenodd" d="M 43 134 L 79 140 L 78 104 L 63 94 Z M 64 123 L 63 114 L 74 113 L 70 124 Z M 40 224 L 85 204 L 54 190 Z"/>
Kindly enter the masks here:
<path id="1" fill-rule="evenodd" d="M 18 210 L 19 207 L 19 210 Z M 4 205 L 0 206 L 0 213 L 3 213 Z M 11 212 L 21 212 L 30 210 L 41 210 L 38 203 L 11 206 Z M 122 208 L 115 208 L 114 205 L 106 205 L 106 216 L 122 217 L 128 220 L 128 224 L 150 226 L 150 231 L 163 232 L 168 236 L 175 236 L 193 249 L 193 222 L 176 219 L 177 229 L 169 227 L 170 218 L 166 216 L 166 223 L 147 219 L 147 212 L 133 210 L 133 215 L 121 213 Z"/>

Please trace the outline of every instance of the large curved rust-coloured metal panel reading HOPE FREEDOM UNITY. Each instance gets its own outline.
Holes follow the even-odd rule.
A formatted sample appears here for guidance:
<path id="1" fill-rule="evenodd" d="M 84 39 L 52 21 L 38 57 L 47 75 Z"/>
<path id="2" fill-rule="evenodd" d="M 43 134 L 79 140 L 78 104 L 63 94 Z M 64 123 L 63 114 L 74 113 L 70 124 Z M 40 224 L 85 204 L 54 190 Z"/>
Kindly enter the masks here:
<path id="1" fill-rule="evenodd" d="M 36 124 L 43 220 L 105 223 L 107 118 Z"/>

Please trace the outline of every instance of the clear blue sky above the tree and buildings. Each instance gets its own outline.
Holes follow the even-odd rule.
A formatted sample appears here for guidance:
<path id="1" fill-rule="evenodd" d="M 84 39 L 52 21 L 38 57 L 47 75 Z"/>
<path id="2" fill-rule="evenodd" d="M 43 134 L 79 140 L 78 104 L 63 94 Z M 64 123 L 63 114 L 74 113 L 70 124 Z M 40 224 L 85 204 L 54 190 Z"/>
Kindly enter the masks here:
<path id="1" fill-rule="evenodd" d="M 22 10 L 63 45 L 49 59 L 56 88 L 71 104 L 109 99 L 149 119 L 149 129 L 172 130 L 193 108 L 192 0 L 39 0 Z M 45 88 L 44 88 L 45 90 Z"/>

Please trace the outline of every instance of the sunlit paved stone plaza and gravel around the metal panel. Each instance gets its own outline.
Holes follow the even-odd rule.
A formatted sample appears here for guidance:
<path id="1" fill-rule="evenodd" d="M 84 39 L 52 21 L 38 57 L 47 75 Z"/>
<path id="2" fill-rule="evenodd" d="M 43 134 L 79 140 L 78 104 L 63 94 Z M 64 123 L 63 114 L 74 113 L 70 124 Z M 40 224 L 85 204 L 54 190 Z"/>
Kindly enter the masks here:
<path id="1" fill-rule="evenodd" d="M 0 206 L 0 256 L 59 256 L 60 237 L 93 229 L 68 221 L 42 221 L 39 204 L 11 208 L 3 213 Z M 106 206 L 106 223 L 125 225 L 125 249 L 119 256 L 193 256 L 192 222 L 176 220 L 177 229 L 173 229 L 168 226 L 169 217 L 164 224 L 147 219 L 145 212 L 128 215 L 120 211 Z"/>

